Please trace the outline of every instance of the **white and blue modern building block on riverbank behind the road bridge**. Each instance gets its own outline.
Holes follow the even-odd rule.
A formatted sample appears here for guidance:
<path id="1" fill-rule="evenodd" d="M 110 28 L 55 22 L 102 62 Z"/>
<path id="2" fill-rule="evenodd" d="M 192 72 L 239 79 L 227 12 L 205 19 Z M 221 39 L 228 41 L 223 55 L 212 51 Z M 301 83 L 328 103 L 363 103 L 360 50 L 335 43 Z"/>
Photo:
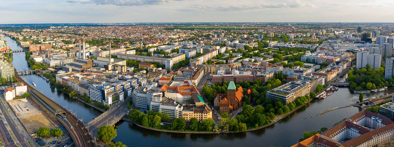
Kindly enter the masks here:
<path id="1" fill-rule="evenodd" d="M 124 101 L 123 87 L 119 83 L 91 85 L 89 98 L 104 105 L 115 105 Z"/>

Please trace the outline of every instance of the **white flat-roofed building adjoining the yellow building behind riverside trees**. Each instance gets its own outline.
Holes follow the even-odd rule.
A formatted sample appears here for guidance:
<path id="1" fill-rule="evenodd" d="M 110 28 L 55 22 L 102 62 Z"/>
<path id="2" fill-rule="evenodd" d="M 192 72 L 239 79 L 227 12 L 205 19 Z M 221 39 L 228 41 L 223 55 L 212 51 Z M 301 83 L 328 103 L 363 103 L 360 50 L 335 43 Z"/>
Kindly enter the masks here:
<path id="1" fill-rule="evenodd" d="M 168 114 L 170 118 L 182 117 L 182 105 L 179 105 L 179 103 L 171 98 L 165 98 L 162 95 L 154 95 L 151 98 L 151 102 L 149 102 L 149 106 L 151 111 Z"/>

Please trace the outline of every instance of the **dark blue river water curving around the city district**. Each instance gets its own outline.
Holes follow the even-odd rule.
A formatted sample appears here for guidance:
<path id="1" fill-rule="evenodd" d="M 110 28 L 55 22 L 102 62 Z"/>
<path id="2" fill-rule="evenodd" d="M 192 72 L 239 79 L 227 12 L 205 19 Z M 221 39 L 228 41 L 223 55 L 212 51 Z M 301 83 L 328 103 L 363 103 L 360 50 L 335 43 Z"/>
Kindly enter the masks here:
<path id="1" fill-rule="evenodd" d="M 9 45 L 12 50 L 21 49 L 16 42 L 12 42 L 13 40 L 11 40 L 11 38 L 6 37 L 6 40 L 7 45 Z M 18 71 L 30 69 L 24 56 L 25 53 L 23 52 L 13 53 L 12 64 Z M 84 122 L 89 122 L 93 117 L 100 114 L 99 111 L 78 100 L 69 98 L 68 95 L 58 91 L 56 88 L 51 88 L 49 82 L 46 82 L 37 75 L 26 75 L 22 76 L 22 78 L 25 78 L 28 83 L 36 83 L 36 89 L 38 91 L 41 91 L 48 98 L 52 98 L 63 107 L 67 106 L 67 109 L 72 109 L 74 113 L 77 113 L 79 119 L 84 119 Z M 342 81 L 342 79 L 340 81 Z M 364 94 L 364 98 L 393 92 L 394 88 L 390 87 L 387 91 Z M 351 93 L 349 88 L 340 87 L 338 91 L 328 96 L 325 100 L 313 100 L 306 106 L 297 110 L 296 113 L 291 114 L 290 117 L 282 119 L 281 122 L 252 132 L 232 134 L 177 134 L 141 129 L 132 123 L 121 121 L 117 124 L 117 136 L 114 141 L 122 142 L 128 147 L 287 147 L 297 143 L 299 138 L 303 137 L 303 132 L 305 131 L 317 131 L 322 127 L 330 128 L 343 118 L 348 118 L 361 111 L 361 109 L 357 107 L 346 107 L 316 116 L 316 114 L 321 111 L 348 105 L 349 103 L 355 103 L 358 101 L 358 96 L 359 94 Z"/>

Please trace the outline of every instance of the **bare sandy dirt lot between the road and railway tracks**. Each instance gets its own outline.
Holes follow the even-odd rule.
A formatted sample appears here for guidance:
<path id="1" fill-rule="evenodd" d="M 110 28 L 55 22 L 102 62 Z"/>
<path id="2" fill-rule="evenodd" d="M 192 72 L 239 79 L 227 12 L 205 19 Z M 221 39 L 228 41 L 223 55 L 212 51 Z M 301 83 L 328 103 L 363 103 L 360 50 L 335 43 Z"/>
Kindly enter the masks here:
<path id="1" fill-rule="evenodd" d="M 40 113 L 32 103 L 24 102 L 24 100 L 16 100 L 8 103 L 18 116 L 20 122 L 26 127 L 28 133 L 38 131 L 39 127 L 55 127 L 54 123 L 48 120 L 44 114 Z"/>

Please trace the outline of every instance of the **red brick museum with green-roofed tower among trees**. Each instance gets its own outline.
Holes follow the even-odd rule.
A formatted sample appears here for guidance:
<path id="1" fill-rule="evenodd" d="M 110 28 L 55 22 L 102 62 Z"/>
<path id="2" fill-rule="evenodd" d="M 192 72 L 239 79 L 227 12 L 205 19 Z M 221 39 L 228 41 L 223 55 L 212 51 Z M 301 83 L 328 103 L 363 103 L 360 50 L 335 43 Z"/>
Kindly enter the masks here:
<path id="1" fill-rule="evenodd" d="M 229 83 L 227 94 L 216 93 L 214 106 L 219 107 L 219 113 L 232 113 L 242 106 L 243 89 L 235 87 L 234 81 Z"/>

